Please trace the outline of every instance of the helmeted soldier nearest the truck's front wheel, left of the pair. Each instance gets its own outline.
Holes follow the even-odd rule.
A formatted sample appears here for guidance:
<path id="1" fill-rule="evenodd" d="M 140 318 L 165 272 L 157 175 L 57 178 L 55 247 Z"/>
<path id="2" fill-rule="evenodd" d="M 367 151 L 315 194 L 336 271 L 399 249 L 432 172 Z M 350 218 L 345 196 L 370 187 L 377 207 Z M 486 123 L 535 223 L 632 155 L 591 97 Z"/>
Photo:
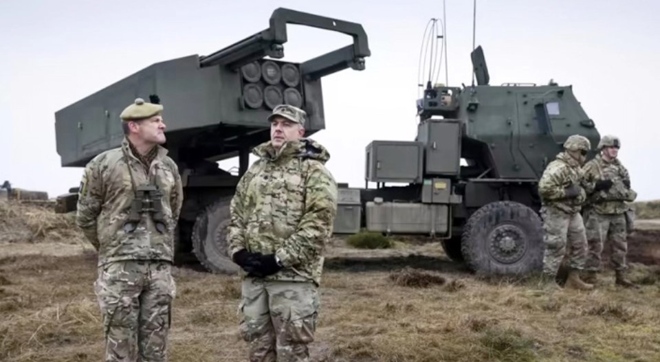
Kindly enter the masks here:
<path id="1" fill-rule="evenodd" d="M 581 135 L 572 135 L 564 142 L 564 152 L 549 163 L 538 182 L 543 217 L 545 255 L 543 274 L 554 280 L 568 246 L 571 271 L 566 288 L 589 290 L 593 285 L 580 280 L 586 258 L 586 234 L 580 210 L 586 199 L 581 186 L 581 166 L 591 142 Z"/>

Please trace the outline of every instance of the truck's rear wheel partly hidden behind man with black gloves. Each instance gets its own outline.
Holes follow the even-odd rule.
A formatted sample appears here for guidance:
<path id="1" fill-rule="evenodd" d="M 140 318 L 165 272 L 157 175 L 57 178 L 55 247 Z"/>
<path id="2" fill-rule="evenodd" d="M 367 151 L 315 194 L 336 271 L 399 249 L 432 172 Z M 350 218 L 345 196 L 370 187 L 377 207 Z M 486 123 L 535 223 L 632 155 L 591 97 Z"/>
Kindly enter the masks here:
<path id="1" fill-rule="evenodd" d="M 192 227 L 192 252 L 212 273 L 236 274 L 241 269 L 228 257 L 227 227 L 231 197 L 212 203 L 201 212 Z"/>

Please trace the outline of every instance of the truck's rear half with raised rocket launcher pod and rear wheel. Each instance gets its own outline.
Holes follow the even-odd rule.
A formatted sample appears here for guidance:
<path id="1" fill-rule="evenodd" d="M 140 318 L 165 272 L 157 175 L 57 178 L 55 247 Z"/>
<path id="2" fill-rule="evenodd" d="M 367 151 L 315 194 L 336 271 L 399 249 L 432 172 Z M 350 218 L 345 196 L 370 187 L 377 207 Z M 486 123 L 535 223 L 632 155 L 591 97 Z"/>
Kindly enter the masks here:
<path id="1" fill-rule="evenodd" d="M 342 32 L 353 43 L 303 63 L 287 62 L 287 24 Z M 250 151 L 270 139 L 267 116 L 278 104 L 292 104 L 307 112 L 307 135 L 324 129 L 321 78 L 347 68 L 361 71 L 370 55 L 362 25 L 278 8 L 270 27 L 242 41 L 207 56 L 156 63 L 56 112 L 57 152 L 62 166 L 83 167 L 120 146 L 119 115 L 126 105 L 135 98 L 163 104 L 164 146 L 184 183 L 177 258 L 192 251 L 211 271 L 234 272 L 224 240 L 229 201 Z M 217 161 L 236 156 L 237 174 L 218 167 Z"/>

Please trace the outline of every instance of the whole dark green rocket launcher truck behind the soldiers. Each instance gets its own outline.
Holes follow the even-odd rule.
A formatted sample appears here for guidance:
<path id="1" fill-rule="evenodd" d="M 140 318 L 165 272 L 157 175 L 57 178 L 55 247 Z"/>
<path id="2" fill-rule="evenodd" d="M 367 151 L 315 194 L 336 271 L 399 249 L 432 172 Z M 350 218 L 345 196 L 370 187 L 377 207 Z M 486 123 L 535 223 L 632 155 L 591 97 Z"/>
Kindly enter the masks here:
<path id="1" fill-rule="evenodd" d="M 288 23 L 349 34 L 353 43 L 287 63 L 281 58 Z M 269 28 L 243 41 L 157 63 L 58 111 L 58 154 L 63 166 L 85 166 L 120 145 L 118 115 L 126 104 L 160 100 L 165 146 L 184 182 L 177 256 L 192 251 L 210 271 L 235 273 L 225 241 L 230 198 L 250 150 L 270 137 L 267 115 L 276 104 L 293 104 L 309 115 L 308 136 L 324 129 L 320 78 L 363 70 L 370 55 L 362 25 L 280 8 Z M 340 187 L 336 234 L 428 236 L 478 273 L 540 268 L 538 179 L 569 135 L 596 144 L 599 133 L 570 86 L 491 85 L 481 47 L 472 63 L 476 84 L 427 84 L 417 100 L 415 139 L 366 145 L 365 183 L 376 188 Z M 238 174 L 218 168 L 217 161 L 236 155 Z"/>

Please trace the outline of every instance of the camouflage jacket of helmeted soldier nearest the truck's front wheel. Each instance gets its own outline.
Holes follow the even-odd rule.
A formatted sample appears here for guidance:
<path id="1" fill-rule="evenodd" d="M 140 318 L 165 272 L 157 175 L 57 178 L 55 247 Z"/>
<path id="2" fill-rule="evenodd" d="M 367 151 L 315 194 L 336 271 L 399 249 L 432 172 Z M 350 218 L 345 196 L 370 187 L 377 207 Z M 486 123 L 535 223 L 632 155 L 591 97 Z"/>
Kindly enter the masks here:
<path id="1" fill-rule="evenodd" d="M 586 192 L 581 187 L 582 170 L 580 163 L 568 153 L 560 152 L 543 171 L 538 181 L 538 193 L 544 206 L 556 207 L 567 214 L 580 212 L 586 199 Z M 575 184 L 580 188 L 580 195 L 566 198 L 566 188 Z"/>

